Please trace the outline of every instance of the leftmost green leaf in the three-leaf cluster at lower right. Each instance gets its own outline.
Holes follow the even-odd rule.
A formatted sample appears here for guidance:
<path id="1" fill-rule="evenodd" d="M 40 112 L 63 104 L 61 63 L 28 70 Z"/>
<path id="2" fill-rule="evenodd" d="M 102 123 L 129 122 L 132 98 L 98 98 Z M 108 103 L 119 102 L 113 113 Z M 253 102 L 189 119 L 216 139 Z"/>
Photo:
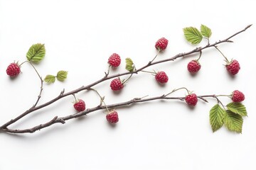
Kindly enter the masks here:
<path id="1" fill-rule="evenodd" d="M 210 109 L 210 125 L 213 132 L 220 129 L 223 126 L 225 110 L 220 105 L 216 104 Z"/>

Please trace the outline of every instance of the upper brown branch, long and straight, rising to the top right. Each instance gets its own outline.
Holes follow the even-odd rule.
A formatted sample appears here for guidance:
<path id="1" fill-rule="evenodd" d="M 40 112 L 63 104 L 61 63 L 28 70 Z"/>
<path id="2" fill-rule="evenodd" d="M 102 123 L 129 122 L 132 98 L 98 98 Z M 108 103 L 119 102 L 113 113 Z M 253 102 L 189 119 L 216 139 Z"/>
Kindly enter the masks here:
<path id="1" fill-rule="evenodd" d="M 247 26 L 243 30 L 238 31 L 238 33 L 235 33 L 235 34 L 231 35 L 230 37 L 228 37 L 228 38 L 226 38 L 224 40 L 220 40 L 220 41 L 215 42 L 213 44 L 208 44 L 208 45 L 206 45 L 204 47 L 196 47 L 194 50 L 191 50 L 190 52 L 179 53 L 178 55 L 175 55 L 174 57 L 171 57 L 171 58 L 166 59 L 166 60 L 159 60 L 159 61 L 156 61 L 156 62 L 153 62 L 153 60 L 152 60 L 151 62 L 146 64 L 144 67 L 141 67 L 141 68 L 135 70 L 134 72 L 124 72 L 122 74 L 114 74 L 112 76 L 109 76 L 109 72 L 107 72 L 107 73 L 105 72 L 105 76 L 102 79 L 99 79 L 99 80 L 95 81 L 92 84 L 89 84 L 87 86 L 81 86 L 80 88 L 75 89 L 73 91 L 69 91 L 69 92 L 67 92 L 65 94 L 62 91 L 59 96 L 53 98 L 52 100 L 50 100 L 50 101 L 48 101 L 46 103 L 41 104 L 40 106 L 36 106 L 36 104 L 38 103 L 38 101 L 37 101 L 36 104 L 35 104 L 35 107 L 32 107 L 32 108 L 28 109 L 27 111 L 25 111 L 21 115 L 18 115 L 18 117 L 9 120 L 9 122 L 5 123 L 4 125 L 1 125 L 0 126 L 0 130 L 6 129 L 9 125 L 15 123 L 16 121 L 20 120 L 21 118 L 23 118 L 24 116 L 28 115 L 29 113 L 32 113 L 33 111 L 37 111 L 38 109 L 44 108 L 46 106 L 49 106 L 50 104 L 54 103 L 55 101 L 60 100 L 60 98 L 64 98 L 65 96 L 70 96 L 70 95 L 73 95 L 73 94 L 77 94 L 80 91 L 84 91 L 84 90 L 90 89 L 92 86 L 100 84 L 103 81 L 106 81 L 108 79 L 113 79 L 115 77 L 122 77 L 122 76 L 128 75 L 128 74 L 138 74 L 139 72 L 142 72 L 143 69 L 146 69 L 147 67 L 151 67 L 152 65 L 160 64 L 160 63 L 164 63 L 164 62 L 169 62 L 169 61 L 174 61 L 174 60 L 176 60 L 176 59 L 178 59 L 180 57 L 185 57 L 185 56 L 191 55 L 191 54 L 196 53 L 196 52 L 201 52 L 202 50 L 206 50 L 209 47 L 215 47 L 216 45 L 221 44 L 223 42 L 232 42 L 232 41 L 230 41 L 230 38 L 233 38 L 235 35 L 238 35 L 238 34 L 244 32 L 245 30 L 247 30 L 247 28 L 250 28 L 250 26 L 252 26 L 252 25 Z M 41 91 L 42 91 L 42 89 L 41 89 Z M 39 96 L 38 96 L 38 100 L 40 98 Z"/>

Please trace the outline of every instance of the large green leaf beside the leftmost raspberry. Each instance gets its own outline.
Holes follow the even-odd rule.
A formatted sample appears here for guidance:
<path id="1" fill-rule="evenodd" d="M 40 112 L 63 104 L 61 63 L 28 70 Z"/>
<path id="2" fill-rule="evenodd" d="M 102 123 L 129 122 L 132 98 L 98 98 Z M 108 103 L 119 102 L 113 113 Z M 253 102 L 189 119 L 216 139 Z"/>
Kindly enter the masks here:
<path id="1" fill-rule="evenodd" d="M 34 44 L 32 45 L 27 54 L 27 60 L 31 61 L 31 62 L 40 62 L 41 60 L 43 60 L 43 57 L 45 57 L 46 55 L 46 48 L 44 46 L 44 44 Z"/>

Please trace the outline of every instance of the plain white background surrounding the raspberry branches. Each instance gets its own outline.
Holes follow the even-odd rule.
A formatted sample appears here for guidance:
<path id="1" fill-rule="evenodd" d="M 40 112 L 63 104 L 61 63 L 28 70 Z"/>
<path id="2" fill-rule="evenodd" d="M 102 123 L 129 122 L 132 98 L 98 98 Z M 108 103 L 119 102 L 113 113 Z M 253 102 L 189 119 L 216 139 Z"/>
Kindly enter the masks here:
<path id="1" fill-rule="evenodd" d="M 122 57 L 122 64 L 111 74 L 124 72 L 126 57 L 137 67 L 149 62 L 161 37 L 169 40 L 169 46 L 158 60 L 193 49 L 183 38 L 182 28 L 187 26 L 210 27 L 211 42 L 227 38 L 255 24 L 252 2 L 0 0 L 0 124 L 36 101 L 40 81 L 30 65 L 24 64 L 16 79 L 6 75 L 8 64 L 26 60 L 34 43 L 46 44 L 46 57 L 36 65 L 43 77 L 68 70 L 64 83 L 44 85 L 41 104 L 63 88 L 70 91 L 102 78 L 113 52 Z M 97 111 L 34 134 L 0 133 L 0 169 L 256 169 L 255 30 L 252 26 L 233 38 L 235 43 L 219 46 L 229 59 L 240 62 L 235 78 L 227 74 L 223 57 L 209 49 L 203 52 L 201 70 L 194 77 L 186 64 L 198 55 L 148 69 L 165 71 L 166 86 L 156 84 L 150 74 L 132 77 L 120 94 L 112 93 L 110 81 L 95 86 L 108 104 L 159 96 L 181 86 L 198 95 L 230 94 L 238 89 L 246 96 L 243 104 L 248 112 L 242 134 L 224 127 L 212 132 L 208 111 L 215 105 L 213 99 L 198 101 L 193 109 L 181 101 L 154 101 L 117 108 L 119 123 L 114 127 L 105 120 L 104 111 Z M 183 95 L 179 91 L 173 96 Z M 92 92 L 78 97 L 87 108 L 99 103 Z M 30 128 L 55 115 L 75 113 L 73 100 L 73 96 L 63 98 L 10 128 Z M 223 103 L 228 102 L 223 98 Z"/>

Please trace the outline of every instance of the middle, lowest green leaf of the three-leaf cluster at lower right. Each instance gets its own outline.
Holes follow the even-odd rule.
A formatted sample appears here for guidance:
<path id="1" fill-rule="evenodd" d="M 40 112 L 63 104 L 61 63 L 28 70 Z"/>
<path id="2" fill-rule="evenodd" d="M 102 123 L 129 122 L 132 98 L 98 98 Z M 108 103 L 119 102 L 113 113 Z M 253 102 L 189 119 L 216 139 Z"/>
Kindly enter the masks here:
<path id="1" fill-rule="evenodd" d="M 225 127 L 230 131 L 242 133 L 242 116 L 231 111 L 225 111 L 224 115 Z"/>

